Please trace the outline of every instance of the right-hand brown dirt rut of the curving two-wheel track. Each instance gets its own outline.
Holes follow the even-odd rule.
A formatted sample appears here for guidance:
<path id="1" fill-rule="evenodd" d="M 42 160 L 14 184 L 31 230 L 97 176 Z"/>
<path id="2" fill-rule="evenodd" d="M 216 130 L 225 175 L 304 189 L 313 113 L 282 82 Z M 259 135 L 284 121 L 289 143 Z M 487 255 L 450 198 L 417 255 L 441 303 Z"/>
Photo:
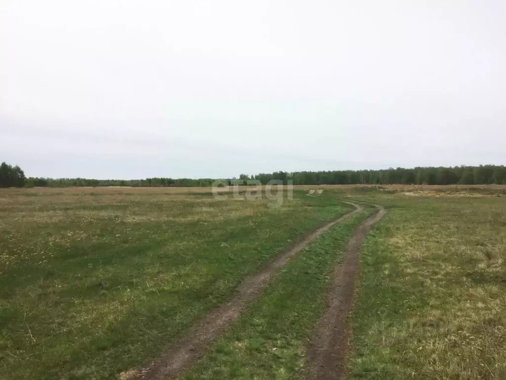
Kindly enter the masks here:
<path id="1" fill-rule="evenodd" d="M 348 314 L 353 309 L 355 279 L 360 268 L 359 250 L 370 227 L 387 213 L 383 206 L 374 206 L 377 212 L 355 229 L 343 262 L 334 270 L 327 295 L 328 307 L 315 326 L 311 343 L 306 346 L 307 380 L 340 380 L 344 377 L 351 337 Z"/>

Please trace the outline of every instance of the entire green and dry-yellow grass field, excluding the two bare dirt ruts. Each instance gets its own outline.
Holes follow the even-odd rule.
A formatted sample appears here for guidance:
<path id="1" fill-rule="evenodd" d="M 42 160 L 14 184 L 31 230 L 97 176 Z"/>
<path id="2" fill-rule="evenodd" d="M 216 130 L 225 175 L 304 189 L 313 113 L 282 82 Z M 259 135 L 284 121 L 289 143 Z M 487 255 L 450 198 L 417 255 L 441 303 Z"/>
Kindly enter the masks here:
<path id="1" fill-rule="evenodd" d="M 349 316 L 354 379 L 506 378 L 506 187 L 299 186 L 273 201 L 210 189 L 0 191 L 0 378 L 98 379 L 142 366 L 241 279 L 351 206 L 384 205 Z M 372 209 L 291 259 L 184 375 L 304 378 L 332 268 Z"/>

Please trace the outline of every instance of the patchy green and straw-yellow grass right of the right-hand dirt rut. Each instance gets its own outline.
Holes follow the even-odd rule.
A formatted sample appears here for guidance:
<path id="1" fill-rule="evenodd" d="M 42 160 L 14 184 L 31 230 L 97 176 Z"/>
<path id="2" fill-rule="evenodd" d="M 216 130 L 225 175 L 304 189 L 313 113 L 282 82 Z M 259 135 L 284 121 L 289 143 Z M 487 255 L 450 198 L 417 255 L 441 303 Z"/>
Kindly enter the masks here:
<path id="1" fill-rule="evenodd" d="M 350 378 L 506 378 L 504 197 L 367 199 Z"/>

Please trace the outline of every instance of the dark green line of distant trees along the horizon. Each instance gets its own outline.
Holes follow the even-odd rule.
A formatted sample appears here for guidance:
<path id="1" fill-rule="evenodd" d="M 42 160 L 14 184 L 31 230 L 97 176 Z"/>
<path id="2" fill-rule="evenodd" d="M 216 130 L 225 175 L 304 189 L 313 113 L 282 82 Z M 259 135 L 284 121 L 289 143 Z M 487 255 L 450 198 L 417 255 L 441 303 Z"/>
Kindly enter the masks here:
<path id="1" fill-rule="evenodd" d="M 267 184 L 271 180 L 294 185 L 347 185 L 347 184 L 427 184 L 427 185 L 479 185 L 506 184 L 506 166 L 480 165 L 455 167 L 416 167 L 411 169 L 389 168 L 381 170 L 333 170 L 241 174 L 238 178 L 222 179 L 220 183 L 246 185 L 248 180 Z M 213 186 L 213 178 L 164 178 L 146 179 L 87 179 L 87 178 L 26 178 L 19 166 L 0 165 L 0 187 L 80 187 L 80 186 L 132 186 L 132 187 L 207 187 Z M 291 181 L 291 182 L 290 182 Z"/>

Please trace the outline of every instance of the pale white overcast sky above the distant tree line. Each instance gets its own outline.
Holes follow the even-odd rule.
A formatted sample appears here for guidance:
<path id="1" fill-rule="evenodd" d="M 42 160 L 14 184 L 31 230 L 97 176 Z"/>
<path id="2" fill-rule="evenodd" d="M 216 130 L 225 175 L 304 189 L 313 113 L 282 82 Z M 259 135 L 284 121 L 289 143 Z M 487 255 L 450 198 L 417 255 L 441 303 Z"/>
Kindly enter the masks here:
<path id="1" fill-rule="evenodd" d="M 230 177 L 506 163 L 503 0 L 2 0 L 0 161 Z"/>

